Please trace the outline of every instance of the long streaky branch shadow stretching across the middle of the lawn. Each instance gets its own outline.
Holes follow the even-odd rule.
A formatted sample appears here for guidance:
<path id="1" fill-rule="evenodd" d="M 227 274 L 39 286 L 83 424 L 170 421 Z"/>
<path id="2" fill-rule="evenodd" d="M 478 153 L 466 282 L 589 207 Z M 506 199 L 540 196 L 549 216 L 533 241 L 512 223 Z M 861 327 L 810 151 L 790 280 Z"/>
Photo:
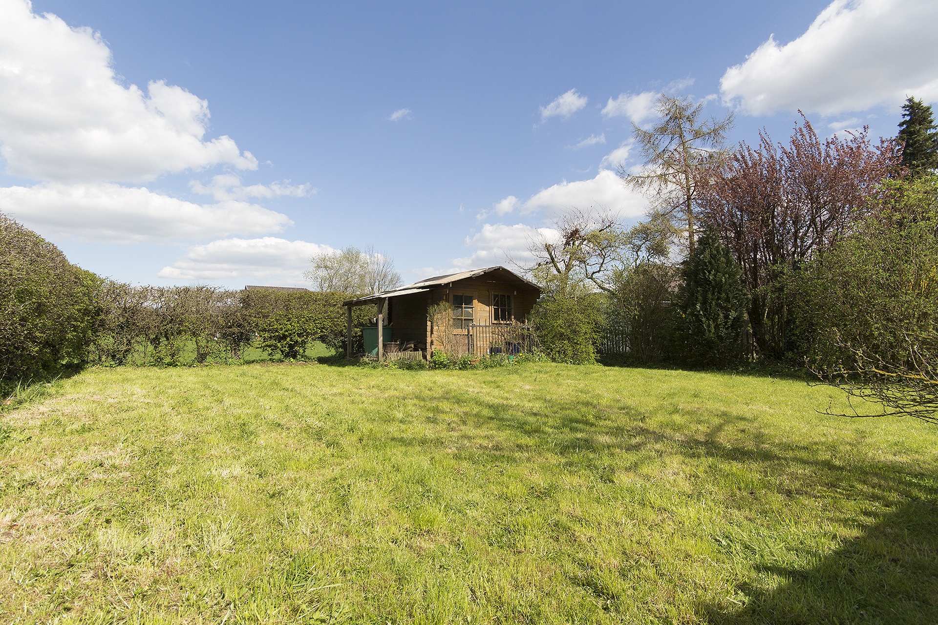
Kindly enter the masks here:
<path id="1" fill-rule="evenodd" d="M 906 498 L 938 500 L 938 485 L 931 478 L 908 465 L 889 462 L 864 464 L 842 463 L 835 455 L 843 450 L 831 450 L 821 443 L 786 442 L 769 439 L 758 419 L 725 410 L 713 414 L 713 423 L 696 421 L 688 416 L 688 429 L 673 431 L 668 424 L 649 422 L 643 409 L 623 403 L 621 407 L 593 406 L 589 397 L 552 397 L 543 404 L 527 405 L 518 409 L 497 397 L 483 394 L 461 394 L 453 390 L 434 389 L 426 396 L 416 395 L 412 401 L 431 402 L 437 406 L 464 406 L 471 402 L 474 419 L 497 425 L 494 431 L 511 432 L 511 442 L 499 443 L 488 436 L 486 429 L 461 428 L 450 437 L 440 437 L 426 431 L 419 436 L 398 437 L 404 446 L 445 449 L 458 445 L 473 450 L 486 462 L 517 462 L 522 454 L 558 454 L 564 461 L 589 463 L 583 454 L 596 454 L 598 466 L 605 467 L 600 456 L 606 453 L 636 454 L 635 462 L 655 462 L 660 455 L 678 455 L 688 460 L 719 459 L 747 470 L 760 470 L 763 474 L 777 475 L 795 471 L 802 480 L 790 484 L 786 495 L 813 496 L 816 487 L 839 491 L 862 490 L 864 496 L 885 506 Z M 426 410 L 433 413 L 432 409 Z M 673 415 L 679 417 L 676 413 Z M 728 430 L 734 432 L 727 433 Z M 845 446 L 862 449 L 865 438 L 851 439 Z M 729 439 L 727 439 L 729 437 Z M 909 475 L 919 475 L 924 482 L 910 481 Z M 938 527 L 938 526 L 936 526 Z"/>

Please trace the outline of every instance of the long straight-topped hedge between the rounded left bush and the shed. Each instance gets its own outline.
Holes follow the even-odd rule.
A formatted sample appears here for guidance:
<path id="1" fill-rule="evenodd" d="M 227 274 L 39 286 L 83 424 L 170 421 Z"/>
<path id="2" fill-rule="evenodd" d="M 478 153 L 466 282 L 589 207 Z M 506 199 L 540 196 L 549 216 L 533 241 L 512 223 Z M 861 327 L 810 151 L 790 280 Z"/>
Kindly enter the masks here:
<path id="1" fill-rule="evenodd" d="M 210 286 L 133 287 L 104 281 L 91 359 L 102 365 L 239 362 L 255 343 L 274 358 L 298 360 L 313 341 L 345 350 L 345 295 L 336 292 L 221 290 Z M 356 347 L 368 321 L 353 310 Z"/>

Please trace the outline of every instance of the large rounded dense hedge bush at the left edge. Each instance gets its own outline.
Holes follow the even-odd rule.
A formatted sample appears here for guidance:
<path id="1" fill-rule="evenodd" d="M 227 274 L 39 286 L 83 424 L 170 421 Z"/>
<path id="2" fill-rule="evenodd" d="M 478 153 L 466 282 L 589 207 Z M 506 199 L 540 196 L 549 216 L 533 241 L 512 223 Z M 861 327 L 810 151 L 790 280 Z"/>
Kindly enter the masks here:
<path id="1" fill-rule="evenodd" d="M 99 281 L 36 232 L 0 215 L 0 383 L 83 364 Z"/>

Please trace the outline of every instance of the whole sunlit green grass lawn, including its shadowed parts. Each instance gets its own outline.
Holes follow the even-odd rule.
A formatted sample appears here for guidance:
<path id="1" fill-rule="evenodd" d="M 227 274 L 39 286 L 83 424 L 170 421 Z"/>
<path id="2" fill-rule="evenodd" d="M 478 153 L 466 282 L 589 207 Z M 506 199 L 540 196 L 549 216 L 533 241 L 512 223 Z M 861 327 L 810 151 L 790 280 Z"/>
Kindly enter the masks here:
<path id="1" fill-rule="evenodd" d="M 0 622 L 936 623 L 938 428 L 794 379 L 95 368 L 0 414 Z"/>

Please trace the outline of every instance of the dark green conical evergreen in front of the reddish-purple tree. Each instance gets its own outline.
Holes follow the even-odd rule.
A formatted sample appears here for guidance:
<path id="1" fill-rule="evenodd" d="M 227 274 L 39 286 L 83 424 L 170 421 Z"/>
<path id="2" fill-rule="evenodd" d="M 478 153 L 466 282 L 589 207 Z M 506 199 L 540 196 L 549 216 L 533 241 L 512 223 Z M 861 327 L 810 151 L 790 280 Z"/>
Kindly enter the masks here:
<path id="1" fill-rule="evenodd" d="M 684 337 L 693 365 L 729 365 L 742 356 L 746 288 L 730 249 L 704 232 L 684 262 L 680 293 Z"/>

